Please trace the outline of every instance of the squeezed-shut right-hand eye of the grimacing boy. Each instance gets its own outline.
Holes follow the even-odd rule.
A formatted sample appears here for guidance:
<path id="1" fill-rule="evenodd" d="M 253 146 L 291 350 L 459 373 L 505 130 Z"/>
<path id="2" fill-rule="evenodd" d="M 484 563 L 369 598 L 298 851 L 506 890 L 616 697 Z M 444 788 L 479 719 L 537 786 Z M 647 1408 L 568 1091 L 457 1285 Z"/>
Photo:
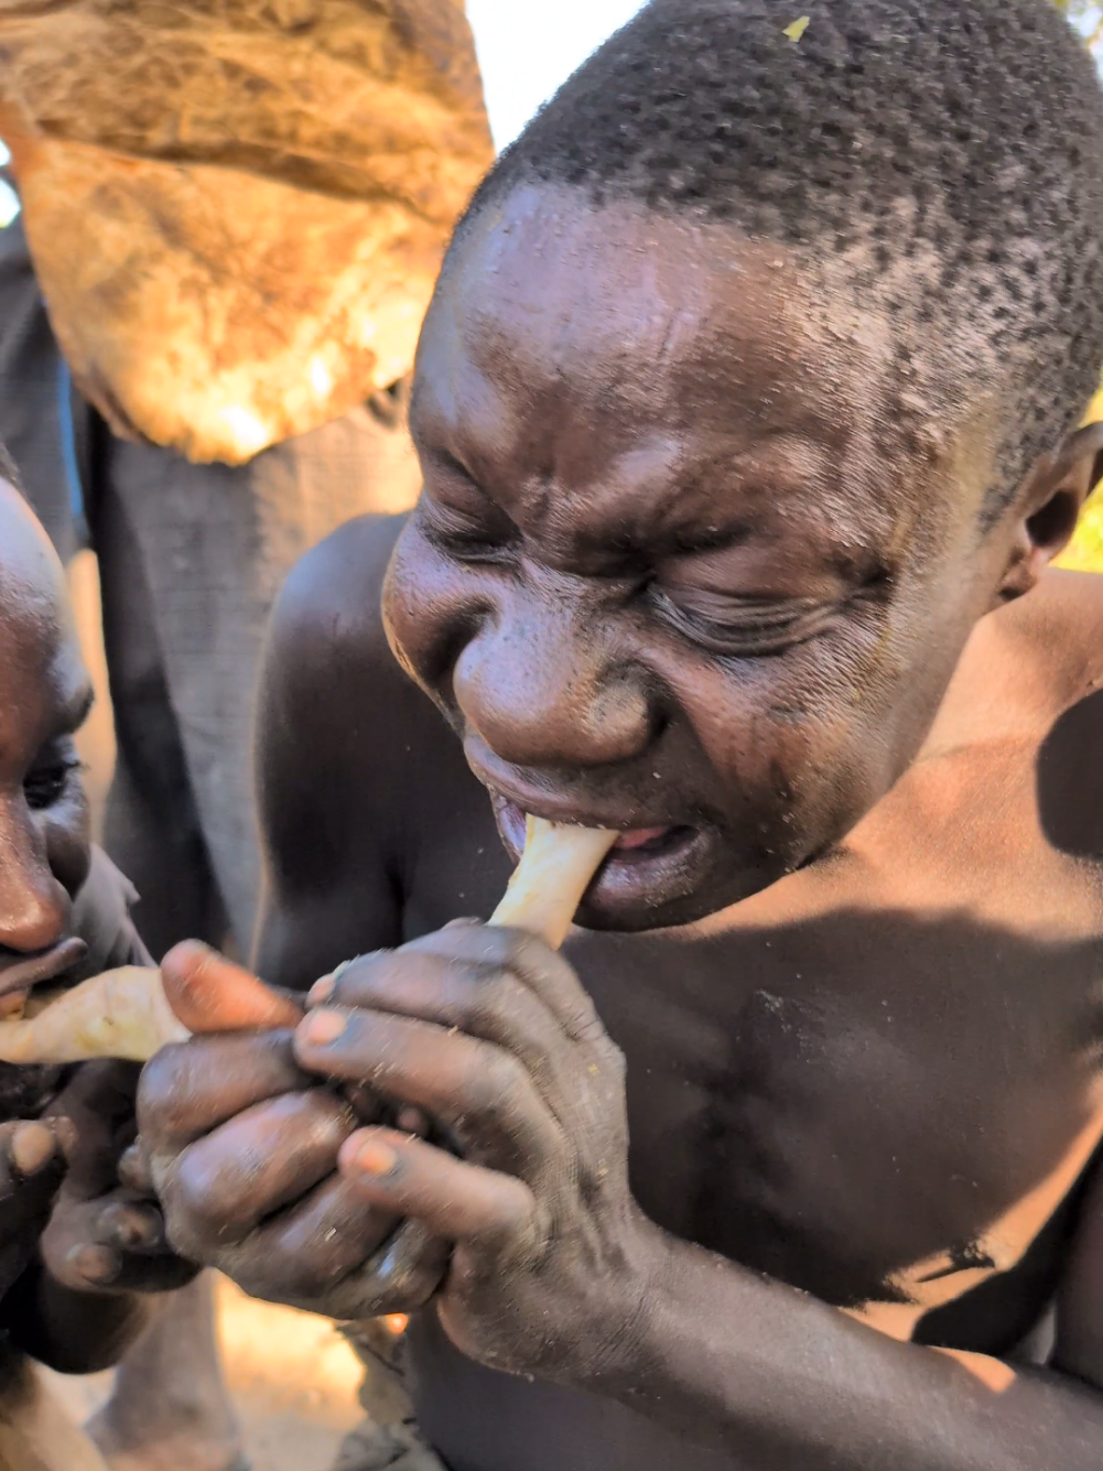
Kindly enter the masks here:
<path id="1" fill-rule="evenodd" d="M 838 612 L 815 599 L 731 599 L 679 590 L 677 599 L 652 584 L 649 597 L 693 643 L 732 658 L 782 653 L 828 628 Z"/>

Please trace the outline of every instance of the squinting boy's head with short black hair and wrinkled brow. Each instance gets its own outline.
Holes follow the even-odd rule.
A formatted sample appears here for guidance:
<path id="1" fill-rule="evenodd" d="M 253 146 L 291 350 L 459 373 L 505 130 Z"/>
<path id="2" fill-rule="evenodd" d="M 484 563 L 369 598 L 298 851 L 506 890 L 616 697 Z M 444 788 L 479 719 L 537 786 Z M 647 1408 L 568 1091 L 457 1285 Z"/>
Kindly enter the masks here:
<path id="1" fill-rule="evenodd" d="M 904 769 L 1088 488 L 1102 240 L 1049 0 L 654 0 L 499 162 L 387 615 L 491 788 L 665 830 L 591 922 L 760 888 Z"/>

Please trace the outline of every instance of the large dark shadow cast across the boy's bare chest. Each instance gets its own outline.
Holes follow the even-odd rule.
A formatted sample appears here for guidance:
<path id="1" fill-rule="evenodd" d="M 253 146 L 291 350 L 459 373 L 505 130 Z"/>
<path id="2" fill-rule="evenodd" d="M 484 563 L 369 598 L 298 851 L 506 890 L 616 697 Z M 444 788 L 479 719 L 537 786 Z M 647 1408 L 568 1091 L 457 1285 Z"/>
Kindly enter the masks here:
<path id="1" fill-rule="evenodd" d="M 1082 1127 L 1094 940 L 840 912 L 650 946 L 578 958 L 628 1056 L 637 1197 L 828 1302 L 968 1258 Z"/>

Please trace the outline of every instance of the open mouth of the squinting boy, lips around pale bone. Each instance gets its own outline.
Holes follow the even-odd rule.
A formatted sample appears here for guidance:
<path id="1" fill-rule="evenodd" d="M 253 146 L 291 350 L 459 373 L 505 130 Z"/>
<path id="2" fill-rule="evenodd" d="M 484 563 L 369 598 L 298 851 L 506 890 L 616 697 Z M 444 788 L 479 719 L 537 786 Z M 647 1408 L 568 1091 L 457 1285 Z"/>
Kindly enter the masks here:
<path id="1" fill-rule="evenodd" d="M 525 811 L 496 791 L 491 791 L 491 802 L 501 840 L 518 859 L 525 846 Z M 538 809 L 532 815 L 565 821 L 559 813 Z M 610 825 L 579 821 L 585 827 Z M 709 849 L 707 833 L 687 824 L 627 828 L 599 868 L 584 909 L 602 911 L 612 919 L 616 913 L 653 909 L 671 897 L 691 891 Z"/>

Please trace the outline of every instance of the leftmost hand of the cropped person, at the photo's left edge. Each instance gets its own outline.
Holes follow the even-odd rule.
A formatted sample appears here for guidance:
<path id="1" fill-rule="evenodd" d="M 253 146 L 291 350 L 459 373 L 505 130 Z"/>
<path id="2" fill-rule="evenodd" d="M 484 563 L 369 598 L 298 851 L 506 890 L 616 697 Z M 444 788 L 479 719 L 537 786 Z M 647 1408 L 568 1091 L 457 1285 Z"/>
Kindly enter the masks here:
<path id="1" fill-rule="evenodd" d="M 71 1137 L 63 1119 L 0 1124 L 0 1297 L 34 1261 Z"/>

